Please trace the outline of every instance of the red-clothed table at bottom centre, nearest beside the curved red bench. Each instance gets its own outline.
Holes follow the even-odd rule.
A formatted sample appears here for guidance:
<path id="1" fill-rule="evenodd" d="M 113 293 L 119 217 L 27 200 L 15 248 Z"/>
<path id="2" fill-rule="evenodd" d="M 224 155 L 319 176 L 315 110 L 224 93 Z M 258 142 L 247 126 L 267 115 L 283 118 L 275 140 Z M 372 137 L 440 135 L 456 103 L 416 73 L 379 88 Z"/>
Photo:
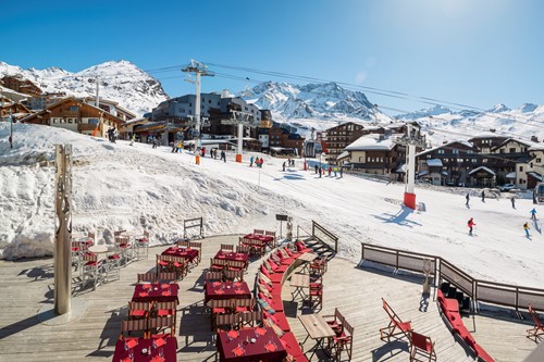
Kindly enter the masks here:
<path id="1" fill-rule="evenodd" d="M 287 351 L 272 328 L 244 328 L 218 333 L 217 348 L 220 361 L 279 362 Z"/>

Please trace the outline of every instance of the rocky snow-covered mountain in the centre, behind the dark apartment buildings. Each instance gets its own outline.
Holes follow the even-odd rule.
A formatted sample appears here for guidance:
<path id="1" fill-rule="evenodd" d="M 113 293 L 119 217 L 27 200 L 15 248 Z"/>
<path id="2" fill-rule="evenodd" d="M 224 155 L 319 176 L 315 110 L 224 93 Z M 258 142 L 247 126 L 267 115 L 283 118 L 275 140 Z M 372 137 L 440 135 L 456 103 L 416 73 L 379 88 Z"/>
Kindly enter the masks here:
<path id="1" fill-rule="evenodd" d="M 336 122 L 391 121 L 361 91 L 353 91 L 336 83 L 307 84 L 265 82 L 239 93 L 239 97 L 269 109 L 274 120 L 304 124 L 304 120 L 321 123 L 316 128 L 329 128 Z M 327 124 L 330 121 L 331 124 Z"/>

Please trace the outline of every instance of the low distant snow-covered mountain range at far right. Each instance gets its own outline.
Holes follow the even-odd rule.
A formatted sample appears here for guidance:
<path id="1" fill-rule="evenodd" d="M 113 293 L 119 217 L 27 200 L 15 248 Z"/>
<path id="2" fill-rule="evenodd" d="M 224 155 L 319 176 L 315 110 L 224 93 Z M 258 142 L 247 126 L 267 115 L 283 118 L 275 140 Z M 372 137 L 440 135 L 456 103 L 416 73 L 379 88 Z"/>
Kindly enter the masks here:
<path id="1" fill-rule="evenodd" d="M 431 134 L 428 139 L 434 145 L 452 139 L 469 139 L 489 130 L 526 140 L 534 137 L 539 141 L 544 139 L 544 105 L 532 103 L 522 104 L 518 109 L 509 109 L 499 103 L 487 111 L 453 111 L 435 105 L 399 114 L 395 118 L 417 121 L 423 132 Z"/>

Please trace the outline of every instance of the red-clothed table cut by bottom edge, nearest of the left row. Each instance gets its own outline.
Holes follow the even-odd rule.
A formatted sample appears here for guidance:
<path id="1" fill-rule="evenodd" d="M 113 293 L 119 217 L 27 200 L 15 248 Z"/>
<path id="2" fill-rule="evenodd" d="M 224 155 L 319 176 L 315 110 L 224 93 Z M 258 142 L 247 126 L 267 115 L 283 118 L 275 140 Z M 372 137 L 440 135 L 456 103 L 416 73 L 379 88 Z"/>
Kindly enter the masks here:
<path id="1" fill-rule="evenodd" d="M 177 360 L 177 339 L 175 337 L 154 338 L 129 338 L 118 340 L 112 362 L 131 362 L 131 350 L 134 362 L 175 362 Z M 144 353 L 146 349 L 146 353 Z M 161 358 L 160 351 L 164 358 Z M 149 354 L 149 351 L 151 352 Z"/>

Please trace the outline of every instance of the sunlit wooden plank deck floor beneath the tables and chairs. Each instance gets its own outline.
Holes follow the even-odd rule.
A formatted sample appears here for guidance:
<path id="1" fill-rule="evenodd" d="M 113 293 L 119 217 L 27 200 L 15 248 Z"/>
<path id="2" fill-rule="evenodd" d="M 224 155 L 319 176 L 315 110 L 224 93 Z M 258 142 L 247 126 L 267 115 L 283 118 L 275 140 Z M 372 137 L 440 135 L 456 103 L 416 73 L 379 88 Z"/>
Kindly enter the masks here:
<path id="1" fill-rule="evenodd" d="M 203 315 L 201 273 L 221 244 L 237 244 L 237 236 L 218 236 L 202 240 L 202 262 L 180 283 L 178 361 L 214 361 L 214 337 L 210 322 Z M 132 297 L 136 273 L 154 266 L 154 254 L 166 247 L 150 249 L 149 259 L 122 269 L 121 279 L 99 286 L 96 291 L 77 294 L 83 299 L 84 314 L 66 324 L 51 325 L 53 321 L 37 317 L 44 305 L 52 303 L 52 259 L 20 262 L 0 261 L 0 360 L 1 361 L 79 361 L 82 359 L 111 360 L 119 337 L 121 321 L 126 316 L 126 304 Z M 254 285 L 260 261 L 250 264 L 246 279 Z M 421 279 L 413 276 L 393 276 L 388 272 L 361 270 L 351 262 L 334 258 L 324 277 L 323 314 L 332 314 L 337 307 L 355 327 L 353 361 L 408 361 L 408 345 L 404 340 L 383 342 L 379 329 L 387 325 L 381 298 L 391 304 L 413 328 L 431 336 L 436 344 L 438 361 L 473 361 L 471 354 L 457 342 L 438 315 L 436 303 L 421 298 Z M 290 287 L 284 285 L 284 303 L 290 327 L 299 341 L 306 330 L 297 316 L 311 312 L 290 302 Z M 463 319 L 475 340 L 497 362 L 521 361 L 535 348 L 524 337 L 531 326 L 517 320 L 509 311 L 481 313 Z M 180 324 L 181 323 L 181 324 Z M 308 339 L 305 351 L 310 349 Z M 344 361 L 347 355 L 344 353 Z M 312 361 L 327 361 L 318 353 Z"/>

